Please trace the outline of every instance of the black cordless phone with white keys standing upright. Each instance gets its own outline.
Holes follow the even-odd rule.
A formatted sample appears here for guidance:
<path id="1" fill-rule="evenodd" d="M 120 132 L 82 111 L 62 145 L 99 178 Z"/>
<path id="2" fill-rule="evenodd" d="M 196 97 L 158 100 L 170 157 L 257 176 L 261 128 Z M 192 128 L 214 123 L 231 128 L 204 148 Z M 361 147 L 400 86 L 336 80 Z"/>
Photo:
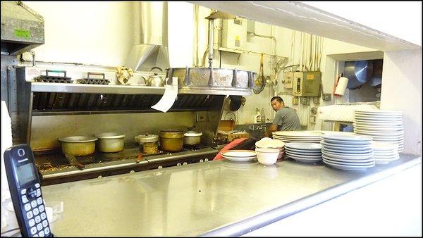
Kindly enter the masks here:
<path id="1" fill-rule="evenodd" d="M 6 149 L 4 165 L 20 234 L 23 237 L 53 237 L 31 147 L 19 144 Z"/>

